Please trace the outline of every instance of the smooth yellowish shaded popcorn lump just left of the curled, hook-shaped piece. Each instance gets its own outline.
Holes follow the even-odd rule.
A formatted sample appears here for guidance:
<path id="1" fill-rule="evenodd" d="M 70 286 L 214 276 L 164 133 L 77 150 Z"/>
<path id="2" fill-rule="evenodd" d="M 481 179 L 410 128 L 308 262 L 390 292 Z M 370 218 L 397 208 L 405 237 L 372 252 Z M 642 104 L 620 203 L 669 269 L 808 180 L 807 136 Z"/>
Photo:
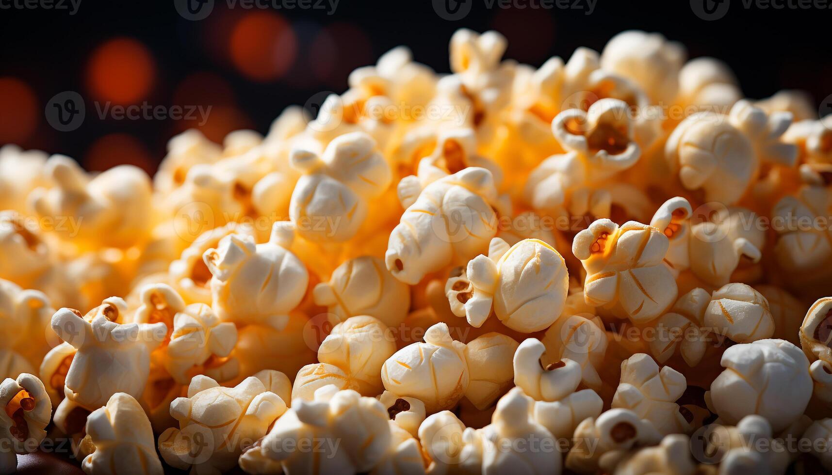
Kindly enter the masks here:
<path id="1" fill-rule="evenodd" d="M 504 334 L 490 332 L 465 345 L 470 383 L 465 397 L 483 410 L 511 388 L 514 380 L 513 359 L 518 342 Z"/>

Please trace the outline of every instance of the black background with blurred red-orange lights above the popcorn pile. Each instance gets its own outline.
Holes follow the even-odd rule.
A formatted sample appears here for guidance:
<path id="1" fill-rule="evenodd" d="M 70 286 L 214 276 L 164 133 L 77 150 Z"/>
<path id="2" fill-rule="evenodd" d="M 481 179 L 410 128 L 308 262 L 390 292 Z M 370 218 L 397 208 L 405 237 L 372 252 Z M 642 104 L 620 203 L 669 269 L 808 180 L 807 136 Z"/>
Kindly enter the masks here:
<path id="1" fill-rule="evenodd" d="M 302 105 L 315 92 L 343 92 L 354 67 L 398 45 L 448 72 L 448 40 L 459 27 L 502 32 L 509 41 L 506 57 L 534 66 L 553 55 L 567 59 L 578 46 L 600 51 L 625 29 L 661 32 L 683 42 L 690 57 L 728 62 L 746 96 L 799 88 L 817 103 L 832 93 L 829 8 L 746 9 L 732 0 L 725 17 L 707 22 L 688 0 L 597 0 L 591 15 L 585 9 L 489 9 L 486 0 L 467 0 L 468 16 L 449 22 L 429 0 L 340 0 L 331 16 L 316 9 L 229 9 L 226 0 L 215 0 L 208 18 L 191 22 L 173 1 L 82 0 L 73 16 L 0 10 L 0 143 L 64 153 L 92 170 L 135 163 L 153 171 L 166 141 L 196 123 L 102 120 L 94 101 L 210 105 L 202 129 L 221 141 L 239 128 L 267 131 L 285 106 Z M 44 118 L 47 101 L 63 91 L 79 92 L 87 106 L 76 131 L 56 131 Z"/>

